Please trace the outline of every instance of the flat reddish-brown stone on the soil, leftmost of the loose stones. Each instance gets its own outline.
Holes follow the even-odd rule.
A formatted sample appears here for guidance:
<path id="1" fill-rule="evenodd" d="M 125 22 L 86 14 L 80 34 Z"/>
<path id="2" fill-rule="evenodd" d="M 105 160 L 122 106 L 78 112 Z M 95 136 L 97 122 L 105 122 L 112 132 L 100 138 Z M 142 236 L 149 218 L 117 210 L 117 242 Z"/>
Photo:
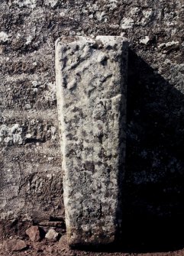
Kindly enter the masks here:
<path id="1" fill-rule="evenodd" d="M 24 240 L 14 238 L 5 241 L 4 248 L 6 251 L 21 251 L 27 248 L 27 245 Z"/>

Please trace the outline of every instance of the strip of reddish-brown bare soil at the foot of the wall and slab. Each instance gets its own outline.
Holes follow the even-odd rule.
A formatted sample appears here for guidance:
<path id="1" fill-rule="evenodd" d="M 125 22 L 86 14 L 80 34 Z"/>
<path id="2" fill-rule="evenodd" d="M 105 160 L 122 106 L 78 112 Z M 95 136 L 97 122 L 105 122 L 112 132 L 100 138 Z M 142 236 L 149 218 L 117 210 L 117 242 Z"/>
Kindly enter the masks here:
<path id="1" fill-rule="evenodd" d="M 0 244 L 0 255 L 1 256 L 184 256 L 184 248 L 176 251 L 146 251 L 146 248 L 137 249 L 135 248 L 96 248 L 95 250 L 72 250 L 67 245 L 66 235 L 60 238 L 60 241 L 51 242 L 46 239 L 40 242 L 31 242 L 26 240 L 27 248 L 24 251 L 6 251 L 5 242 Z M 145 250 L 145 251 L 144 251 Z"/>

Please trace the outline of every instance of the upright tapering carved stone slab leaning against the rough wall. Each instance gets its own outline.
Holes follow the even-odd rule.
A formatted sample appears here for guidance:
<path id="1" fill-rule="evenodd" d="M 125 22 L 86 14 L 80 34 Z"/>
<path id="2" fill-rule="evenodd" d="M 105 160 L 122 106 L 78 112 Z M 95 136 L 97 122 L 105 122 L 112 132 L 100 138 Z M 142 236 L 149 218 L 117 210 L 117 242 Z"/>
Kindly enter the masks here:
<path id="1" fill-rule="evenodd" d="M 121 225 L 126 73 L 124 37 L 61 37 L 56 91 L 69 245 L 108 244 Z"/>

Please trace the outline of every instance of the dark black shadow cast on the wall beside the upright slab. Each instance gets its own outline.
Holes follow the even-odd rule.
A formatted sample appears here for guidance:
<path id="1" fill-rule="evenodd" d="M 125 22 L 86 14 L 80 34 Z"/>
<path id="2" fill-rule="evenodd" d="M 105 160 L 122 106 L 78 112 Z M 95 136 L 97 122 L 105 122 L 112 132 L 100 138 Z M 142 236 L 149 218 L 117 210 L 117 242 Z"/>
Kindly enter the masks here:
<path id="1" fill-rule="evenodd" d="M 183 248 L 184 95 L 132 50 L 127 134 L 121 244 L 128 251 Z"/>

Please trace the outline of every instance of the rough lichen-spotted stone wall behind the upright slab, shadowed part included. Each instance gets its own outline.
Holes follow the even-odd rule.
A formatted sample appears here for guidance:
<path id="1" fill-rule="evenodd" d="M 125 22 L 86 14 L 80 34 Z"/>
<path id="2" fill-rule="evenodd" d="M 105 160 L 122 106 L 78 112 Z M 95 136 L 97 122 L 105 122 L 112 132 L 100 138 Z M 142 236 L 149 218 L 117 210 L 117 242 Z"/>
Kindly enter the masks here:
<path id="1" fill-rule="evenodd" d="M 183 1 L 1 0 L 0 9 L 1 219 L 63 218 L 54 42 L 75 34 L 130 41 L 124 211 L 182 216 Z"/>

